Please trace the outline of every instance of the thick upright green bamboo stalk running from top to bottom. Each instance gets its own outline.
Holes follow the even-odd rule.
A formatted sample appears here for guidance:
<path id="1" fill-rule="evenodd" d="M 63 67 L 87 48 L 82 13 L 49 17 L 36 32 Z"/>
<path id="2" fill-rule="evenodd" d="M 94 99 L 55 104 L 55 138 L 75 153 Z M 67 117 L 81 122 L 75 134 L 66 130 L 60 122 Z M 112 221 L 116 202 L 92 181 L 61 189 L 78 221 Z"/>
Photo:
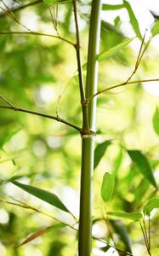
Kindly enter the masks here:
<path id="1" fill-rule="evenodd" d="M 88 40 L 88 67 L 86 79 L 86 98 L 97 91 L 99 35 L 101 0 L 92 1 Z M 90 256 L 92 251 L 93 215 L 93 173 L 94 173 L 94 133 L 96 98 L 88 103 L 88 134 L 82 135 L 82 170 L 80 195 L 80 220 L 78 233 L 78 256 Z M 84 122 L 84 120 L 83 120 Z"/>

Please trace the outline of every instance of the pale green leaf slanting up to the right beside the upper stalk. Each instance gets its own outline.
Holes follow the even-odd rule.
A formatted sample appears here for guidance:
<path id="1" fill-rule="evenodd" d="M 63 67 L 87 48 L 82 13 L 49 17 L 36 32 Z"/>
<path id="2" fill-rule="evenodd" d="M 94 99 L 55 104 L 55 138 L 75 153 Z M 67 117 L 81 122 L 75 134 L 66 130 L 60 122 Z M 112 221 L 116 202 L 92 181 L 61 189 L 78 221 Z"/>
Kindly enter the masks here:
<path id="1" fill-rule="evenodd" d="M 116 46 L 112 47 L 111 49 L 103 51 L 102 53 L 99 54 L 98 60 L 105 61 L 105 60 L 111 58 L 113 55 L 116 55 L 119 50 L 123 49 L 123 47 L 127 46 L 132 41 L 133 41 L 133 38 L 129 38 L 129 39 L 125 40 L 124 42 L 122 42 L 121 44 L 117 44 Z"/>

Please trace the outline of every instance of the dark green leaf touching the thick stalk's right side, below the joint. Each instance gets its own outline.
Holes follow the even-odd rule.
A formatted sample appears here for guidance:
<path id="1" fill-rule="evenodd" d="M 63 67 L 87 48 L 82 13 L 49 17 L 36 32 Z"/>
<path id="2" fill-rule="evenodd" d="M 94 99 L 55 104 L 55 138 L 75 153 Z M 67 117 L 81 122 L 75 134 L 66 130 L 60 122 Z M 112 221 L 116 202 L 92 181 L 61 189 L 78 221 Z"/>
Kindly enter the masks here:
<path id="1" fill-rule="evenodd" d="M 105 150 L 111 145 L 111 141 L 105 141 L 97 145 L 94 151 L 94 169 L 99 165 L 99 161 L 102 156 L 105 154 Z"/>

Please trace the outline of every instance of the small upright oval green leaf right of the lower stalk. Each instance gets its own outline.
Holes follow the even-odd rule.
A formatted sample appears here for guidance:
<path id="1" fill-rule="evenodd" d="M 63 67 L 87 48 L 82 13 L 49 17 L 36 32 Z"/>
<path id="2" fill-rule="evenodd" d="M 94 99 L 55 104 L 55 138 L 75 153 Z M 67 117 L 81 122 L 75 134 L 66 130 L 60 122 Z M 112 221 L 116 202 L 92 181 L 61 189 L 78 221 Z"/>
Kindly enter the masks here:
<path id="1" fill-rule="evenodd" d="M 107 202 L 111 199 L 111 196 L 114 191 L 115 178 L 113 174 L 105 172 L 103 177 L 103 183 L 101 186 L 101 197 L 103 201 Z"/>

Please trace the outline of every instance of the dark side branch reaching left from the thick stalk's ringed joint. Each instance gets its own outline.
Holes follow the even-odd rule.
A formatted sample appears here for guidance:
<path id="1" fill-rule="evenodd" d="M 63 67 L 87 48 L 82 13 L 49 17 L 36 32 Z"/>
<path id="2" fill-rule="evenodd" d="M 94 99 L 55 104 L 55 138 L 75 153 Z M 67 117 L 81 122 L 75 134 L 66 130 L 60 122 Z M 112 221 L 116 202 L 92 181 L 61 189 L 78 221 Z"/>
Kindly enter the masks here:
<path id="1" fill-rule="evenodd" d="M 47 113 L 40 113 L 40 112 L 25 109 L 25 108 L 17 108 L 17 107 L 15 108 L 15 107 L 8 107 L 8 106 L 0 106 L 0 108 L 7 108 L 7 109 L 14 110 L 14 111 L 35 114 L 35 115 L 42 116 L 42 117 L 48 118 L 48 119 L 54 119 L 54 120 L 56 120 L 60 123 L 63 123 L 65 125 L 68 125 L 68 126 L 74 128 L 74 129 L 76 129 L 77 131 L 80 131 L 80 132 L 82 131 L 82 129 L 80 127 L 78 127 L 77 125 L 73 125 L 73 124 L 67 122 L 64 119 L 60 119 L 60 117 L 58 117 L 58 116 L 53 116 L 53 115 L 50 115 L 50 114 L 47 114 Z"/>

